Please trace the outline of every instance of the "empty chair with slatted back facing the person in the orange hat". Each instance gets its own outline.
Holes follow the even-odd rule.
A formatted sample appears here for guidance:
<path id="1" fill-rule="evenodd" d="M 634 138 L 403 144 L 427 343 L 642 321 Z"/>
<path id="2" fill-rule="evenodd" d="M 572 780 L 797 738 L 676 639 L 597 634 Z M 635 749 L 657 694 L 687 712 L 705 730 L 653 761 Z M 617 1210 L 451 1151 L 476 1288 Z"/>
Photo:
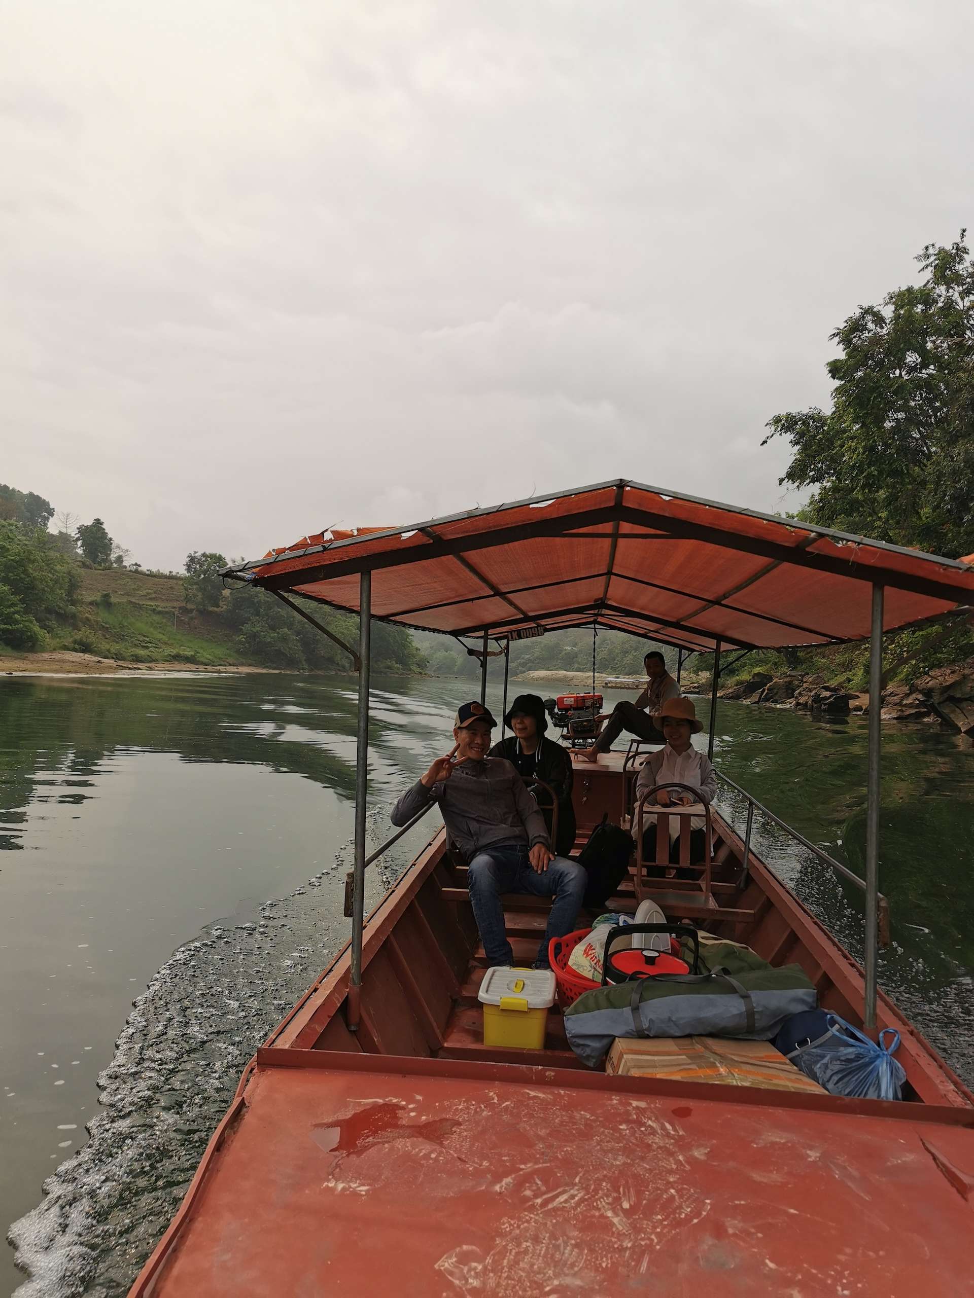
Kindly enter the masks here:
<path id="1" fill-rule="evenodd" d="M 713 829 L 710 824 L 710 807 L 705 802 L 693 802 L 691 806 L 656 806 L 648 805 L 649 798 L 660 789 L 679 789 L 691 797 L 699 796 L 699 789 L 688 784 L 655 784 L 642 794 L 635 806 L 635 840 L 636 840 L 636 875 L 635 893 L 638 901 L 651 897 L 662 907 L 666 914 L 679 914 L 688 918 L 703 918 L 717 907 L 714 901 L 710 871 L 713 867 Z M 653 844 L 652 859 L 643 855 L 643 824 L 644 816 L 656 819 L 656 841 Z M 679 857 L 674 863 L 670 861 L 670 816 L 679 820 L 678 844 Z M 704 863 L 692 864 L 690 859 L 691 819 L 703 816 L 704 820 Z M 692 871 L 699 877 L 668 879 L 666 871 L 671 868 Z M 658 871 L 660 876 L 647 875 L 647 868 Z"/>

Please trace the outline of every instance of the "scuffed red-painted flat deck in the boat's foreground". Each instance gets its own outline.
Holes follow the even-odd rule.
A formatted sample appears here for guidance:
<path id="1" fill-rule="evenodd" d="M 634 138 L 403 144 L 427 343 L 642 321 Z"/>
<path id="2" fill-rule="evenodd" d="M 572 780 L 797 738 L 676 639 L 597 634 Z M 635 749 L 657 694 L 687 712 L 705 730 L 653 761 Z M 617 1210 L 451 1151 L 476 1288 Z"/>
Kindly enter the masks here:
<path id="1" fill-rule="evenodd" d="M 265 1049 L 145 1292 L 960 1293 L 970 1115 L 788 1098 Z"/>

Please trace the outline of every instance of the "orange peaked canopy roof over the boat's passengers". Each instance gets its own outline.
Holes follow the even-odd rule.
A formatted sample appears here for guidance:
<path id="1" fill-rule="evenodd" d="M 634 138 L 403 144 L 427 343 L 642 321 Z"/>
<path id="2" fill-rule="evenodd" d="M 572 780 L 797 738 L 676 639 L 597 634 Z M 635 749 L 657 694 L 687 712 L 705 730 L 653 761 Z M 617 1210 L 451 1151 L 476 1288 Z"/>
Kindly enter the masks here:
<path id="1" fill-rule="evenodd" d="M 591 626 L 687 649 L 860 640 L 974 605 L 974 567 L 790 518 L 614 480 L 412 527 L 303 537 L 227 569 L 269 589 L 453 635 Z"/>

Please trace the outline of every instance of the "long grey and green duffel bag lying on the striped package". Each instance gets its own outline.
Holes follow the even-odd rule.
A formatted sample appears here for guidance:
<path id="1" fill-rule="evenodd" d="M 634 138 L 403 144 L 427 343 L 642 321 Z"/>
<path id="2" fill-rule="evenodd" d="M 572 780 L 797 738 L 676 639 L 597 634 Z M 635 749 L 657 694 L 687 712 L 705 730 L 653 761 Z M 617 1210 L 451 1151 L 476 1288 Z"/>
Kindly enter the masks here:
<path id="1" fill-rule="evenodd" d="M 747 946 L 706 942 L 705 974 L 661 974 L 586 992 L 565 1010 L 565 1035 L 599 1068 L 616 1037 L 744 1037 L 770 1041 L 818 996 L 800 964 L 771 968 Z"/>

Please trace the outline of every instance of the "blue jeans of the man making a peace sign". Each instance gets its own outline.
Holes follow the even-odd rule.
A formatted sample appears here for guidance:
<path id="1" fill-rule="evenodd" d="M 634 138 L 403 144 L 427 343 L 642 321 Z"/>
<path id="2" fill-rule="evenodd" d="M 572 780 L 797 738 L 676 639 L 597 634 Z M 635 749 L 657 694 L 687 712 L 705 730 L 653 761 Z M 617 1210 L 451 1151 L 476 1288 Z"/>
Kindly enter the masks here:
<path id="1" fill-rule="evenodd" d="M 564 937 L 575 927 L 575 918 L 586 890 L 584 866 L 565 857 L 556 857 L 542 874 L 531 868 L 527 844 L 501 842 L 478 851 L 470 862 L 468 887 L 481 941 L 491 964 L 513 964 L 514 953 L 504 924 L 501 893 L 525 892 L 532 897 L 553 897 L 544 941 L 538 961 L 548 964 L 548 942 Z"/>

